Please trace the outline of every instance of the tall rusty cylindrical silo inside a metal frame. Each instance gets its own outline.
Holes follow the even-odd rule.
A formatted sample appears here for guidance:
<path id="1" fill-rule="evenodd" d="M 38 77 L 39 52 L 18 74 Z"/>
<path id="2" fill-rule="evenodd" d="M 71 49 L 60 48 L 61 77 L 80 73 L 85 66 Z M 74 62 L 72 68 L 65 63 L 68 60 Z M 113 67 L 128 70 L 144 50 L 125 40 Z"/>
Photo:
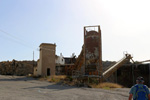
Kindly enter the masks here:
<path id="1" fill-rule="evenodd" d="M 86 75 L 102 76 L 102 43 L 100 26 L 84 27 L 84 65 Z"/>

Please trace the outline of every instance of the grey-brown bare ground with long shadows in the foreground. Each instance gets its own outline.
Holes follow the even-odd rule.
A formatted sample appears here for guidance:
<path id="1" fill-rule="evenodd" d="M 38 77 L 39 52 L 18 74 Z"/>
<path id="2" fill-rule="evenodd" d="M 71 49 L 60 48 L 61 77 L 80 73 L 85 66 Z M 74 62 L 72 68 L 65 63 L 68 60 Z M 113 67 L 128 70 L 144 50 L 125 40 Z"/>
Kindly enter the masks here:
<path id="1" fill-rule="evenodd" d="M 127 100 L 129 88 L 95 89 L 0 75 L 0 100 Z"/>

